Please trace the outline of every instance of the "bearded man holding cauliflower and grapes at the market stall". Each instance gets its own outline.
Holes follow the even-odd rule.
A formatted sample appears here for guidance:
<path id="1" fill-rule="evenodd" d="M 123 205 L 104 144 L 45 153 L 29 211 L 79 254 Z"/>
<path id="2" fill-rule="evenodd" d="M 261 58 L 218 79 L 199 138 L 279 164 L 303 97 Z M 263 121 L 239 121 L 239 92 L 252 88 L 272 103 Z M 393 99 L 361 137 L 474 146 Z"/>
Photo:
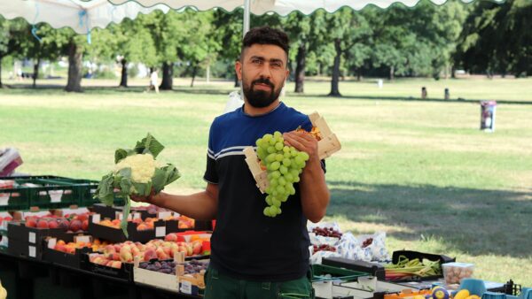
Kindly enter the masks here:
<path id="1" fill-rule="evenodd" d="M 216 219 L 206 299 L 312 297 L 306 225 L 307 219 L 318 222 L 325 216 L 329 191 L 317 141 L 294 132 L 298 126 L 309 131 L 309 117 L 278 99 L 289 73 L 287 61 L 285 33 L 270 27 L 249 31 L 235 64 L 245 103 L 217 117 L 210 128 L 206 190 L 148 198 L 193 219 Z M 270 218 L 262 213 L 265 195 L 255 186 L 242 150 L 275 131 L 284 133 L 286 144 L 307 152 L 309 161 L 294 186 L 296 194 Z"/>

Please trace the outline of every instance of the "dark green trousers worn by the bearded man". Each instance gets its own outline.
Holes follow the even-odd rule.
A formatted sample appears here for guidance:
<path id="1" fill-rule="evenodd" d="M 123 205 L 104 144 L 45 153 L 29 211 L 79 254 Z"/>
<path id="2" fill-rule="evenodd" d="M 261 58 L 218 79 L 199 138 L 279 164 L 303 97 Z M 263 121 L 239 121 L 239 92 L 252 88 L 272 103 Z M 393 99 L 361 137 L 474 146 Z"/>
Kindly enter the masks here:
<path id="1" fill-rule="evenodd" d="M 208 268 L 205 299 L 314 299 L 309 275 L 283 282 L 238 280 Z"/>

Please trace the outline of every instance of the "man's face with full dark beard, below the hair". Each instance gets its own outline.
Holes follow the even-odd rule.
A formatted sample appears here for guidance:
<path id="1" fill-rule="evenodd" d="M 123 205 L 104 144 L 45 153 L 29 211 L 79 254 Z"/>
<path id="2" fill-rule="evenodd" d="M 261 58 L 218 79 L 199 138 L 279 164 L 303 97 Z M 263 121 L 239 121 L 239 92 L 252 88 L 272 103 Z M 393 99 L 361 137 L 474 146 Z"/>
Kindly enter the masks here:
<path id="1" fill-rule="evenodd" d="M 255 108 L 275 102 L 288 76 L 285 50 L 270 44 L 246 48 L 235 68 L 247 103 Z"/>

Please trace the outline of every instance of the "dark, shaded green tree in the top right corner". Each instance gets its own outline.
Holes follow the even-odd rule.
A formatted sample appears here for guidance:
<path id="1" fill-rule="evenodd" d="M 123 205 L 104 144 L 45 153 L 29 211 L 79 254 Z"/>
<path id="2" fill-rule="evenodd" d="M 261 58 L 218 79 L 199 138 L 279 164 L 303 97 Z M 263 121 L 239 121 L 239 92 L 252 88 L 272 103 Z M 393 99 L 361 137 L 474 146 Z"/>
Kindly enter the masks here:
<path id="1" fill-rule="evenodd" d="M 465 21 L 456 61 L 471 72 L 532 74 L 532 3 L 479 2 Z"/>

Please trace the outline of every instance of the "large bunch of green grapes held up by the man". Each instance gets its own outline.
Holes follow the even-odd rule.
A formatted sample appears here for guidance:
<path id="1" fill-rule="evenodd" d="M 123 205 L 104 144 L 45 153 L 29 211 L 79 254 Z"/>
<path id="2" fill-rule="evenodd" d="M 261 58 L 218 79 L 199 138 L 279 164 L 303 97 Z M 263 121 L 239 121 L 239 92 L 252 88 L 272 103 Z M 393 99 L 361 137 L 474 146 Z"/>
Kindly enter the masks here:
<path id="1" fill-rule="evenodd" d="M 270 186 L 266 188 L 264 215 L 276 217 L 281 213 L 281 203 L 295 194 L 293 183 L 300 181 L 300 173 L 309 160 L 309 154 L 285 145 L 283 134 L 265 134 L 256 142 L 257 156 L 266 166 Z"/>

